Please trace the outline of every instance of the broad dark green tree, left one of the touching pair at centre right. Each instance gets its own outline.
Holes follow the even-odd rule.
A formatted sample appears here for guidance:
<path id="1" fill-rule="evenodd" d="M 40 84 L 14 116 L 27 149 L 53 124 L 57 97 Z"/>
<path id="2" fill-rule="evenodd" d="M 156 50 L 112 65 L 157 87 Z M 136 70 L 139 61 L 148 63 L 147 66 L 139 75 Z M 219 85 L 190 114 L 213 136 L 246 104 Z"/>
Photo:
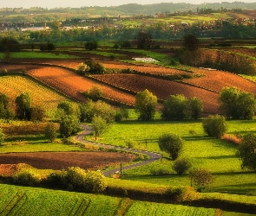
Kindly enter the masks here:
<path id="1" fill-rule="evenodd" d="M 164 120 L 182 120 L 187 118 L 188 99 L 182 95 L 171 95 L 164 101 L 161 109 L 161 118 Z"/>

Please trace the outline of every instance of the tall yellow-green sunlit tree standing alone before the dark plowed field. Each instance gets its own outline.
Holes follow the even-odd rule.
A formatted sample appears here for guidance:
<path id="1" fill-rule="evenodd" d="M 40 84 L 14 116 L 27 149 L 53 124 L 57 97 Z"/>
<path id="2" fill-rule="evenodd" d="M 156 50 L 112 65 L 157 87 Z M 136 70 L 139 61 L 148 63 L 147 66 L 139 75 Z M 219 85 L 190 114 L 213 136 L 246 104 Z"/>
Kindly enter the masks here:
<path id="1" fill-rule="evenodd" d="M 138 92 L 135 96 L 135 110 L 139 112 L 139 119 L 152 120 L 157 106 L 157 98 L 148 89 Z"/>

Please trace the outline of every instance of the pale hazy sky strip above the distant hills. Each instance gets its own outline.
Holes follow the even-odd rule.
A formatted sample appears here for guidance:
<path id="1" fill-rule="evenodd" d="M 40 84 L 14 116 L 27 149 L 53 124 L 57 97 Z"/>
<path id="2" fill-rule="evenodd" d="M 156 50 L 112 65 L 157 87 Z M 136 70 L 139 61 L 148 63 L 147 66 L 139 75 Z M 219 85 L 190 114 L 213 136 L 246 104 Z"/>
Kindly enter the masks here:
<path id="1" fill-rule="evenodd" d="M 138 3 L 138 4 L 151 4 L 151 3 L 221 3 L 221 2 L 235 2 L 234 0 L 172 0 L 172 1 L 165 1 L 165 0 L 7 0 L 1 1 L 0 8 L 20 8 L 23 7 L 25 9 L 30 7 L 42 7 L 42 8 L 80 8 L 83 6 L 118 6 L 121 4 L 127 3 Z M 244 2 L 244 3 L 255 3 L 256 0 L 237 0 L 237 2 Z"/>

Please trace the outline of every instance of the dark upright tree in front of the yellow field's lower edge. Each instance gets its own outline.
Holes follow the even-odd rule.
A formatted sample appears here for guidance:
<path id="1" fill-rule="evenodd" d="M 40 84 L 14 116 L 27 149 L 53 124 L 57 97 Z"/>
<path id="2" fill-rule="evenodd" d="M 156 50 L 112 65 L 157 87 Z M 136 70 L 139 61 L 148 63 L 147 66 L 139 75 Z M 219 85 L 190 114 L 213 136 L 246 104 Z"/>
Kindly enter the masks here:
<path id="1" fill-rule="evenodd" d="M 32 100 L 30 93 L 23 92 L 15 99 L 16 103 L 16 115 L 20 119 L 30 119 L 30 108 Z"/>

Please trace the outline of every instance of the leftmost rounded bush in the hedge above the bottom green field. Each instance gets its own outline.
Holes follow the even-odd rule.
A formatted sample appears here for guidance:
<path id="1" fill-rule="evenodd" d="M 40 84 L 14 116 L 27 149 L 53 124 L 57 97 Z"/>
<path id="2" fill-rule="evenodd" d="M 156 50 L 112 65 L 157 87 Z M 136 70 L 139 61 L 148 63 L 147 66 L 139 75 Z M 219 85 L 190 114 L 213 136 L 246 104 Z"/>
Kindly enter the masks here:
<path id="1" fill-rule="evenodd" d="M 40 178 L 31 170 L 21 170 L 13 176 L 13 181 L 18 185 L 36 186 L 40 182 Z"/>

